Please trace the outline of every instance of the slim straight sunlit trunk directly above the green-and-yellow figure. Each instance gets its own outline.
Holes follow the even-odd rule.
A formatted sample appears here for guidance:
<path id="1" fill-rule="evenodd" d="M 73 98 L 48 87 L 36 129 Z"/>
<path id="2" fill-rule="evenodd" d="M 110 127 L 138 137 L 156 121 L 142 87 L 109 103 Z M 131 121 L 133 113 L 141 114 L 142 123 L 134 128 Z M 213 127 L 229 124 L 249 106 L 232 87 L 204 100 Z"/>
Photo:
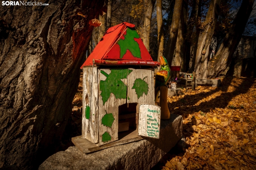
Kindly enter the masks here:
<path id="1" fill-rule="evenodd" d="M 157 61 L 159 62 L 159 57 L 163 55 L 163 14 L 162 14 L 162 0 L 156 1 L 156 17 L 157 17 L 157 47 L 158 55 Z"/>

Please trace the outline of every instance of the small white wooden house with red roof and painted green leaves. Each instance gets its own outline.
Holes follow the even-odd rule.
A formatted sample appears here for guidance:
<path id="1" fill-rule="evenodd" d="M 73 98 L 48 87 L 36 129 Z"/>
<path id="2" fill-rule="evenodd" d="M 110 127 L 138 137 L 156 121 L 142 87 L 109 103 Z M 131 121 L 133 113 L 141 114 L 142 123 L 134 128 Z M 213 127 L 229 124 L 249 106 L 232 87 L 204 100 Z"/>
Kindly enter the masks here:
<path id="1" fill-rule="evenodd" d="M 97 146 L 138 131 L 138 106 L 155 104 L 154 67 L 133 24 L 109 28 L 82 65 L 82 137 Z"/>

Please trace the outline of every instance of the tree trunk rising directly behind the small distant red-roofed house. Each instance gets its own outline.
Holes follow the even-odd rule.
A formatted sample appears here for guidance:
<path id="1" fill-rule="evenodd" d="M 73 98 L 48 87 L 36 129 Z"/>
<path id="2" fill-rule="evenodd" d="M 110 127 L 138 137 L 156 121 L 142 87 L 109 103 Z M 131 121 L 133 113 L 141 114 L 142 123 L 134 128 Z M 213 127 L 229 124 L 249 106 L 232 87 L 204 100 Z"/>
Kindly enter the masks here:
<path id="1" fill-rule="evenodd" d="M 185 45 L 185 36 L 186 36 L 186 21 L 188 15 L 188 4 L 183 1 L 181 14 L 180 14 L 180 24 L 179 31 L 176 42 L 176 53 L 174 66 L 181 66 L 181 71 L 186 72 L 186 45 Z"/>

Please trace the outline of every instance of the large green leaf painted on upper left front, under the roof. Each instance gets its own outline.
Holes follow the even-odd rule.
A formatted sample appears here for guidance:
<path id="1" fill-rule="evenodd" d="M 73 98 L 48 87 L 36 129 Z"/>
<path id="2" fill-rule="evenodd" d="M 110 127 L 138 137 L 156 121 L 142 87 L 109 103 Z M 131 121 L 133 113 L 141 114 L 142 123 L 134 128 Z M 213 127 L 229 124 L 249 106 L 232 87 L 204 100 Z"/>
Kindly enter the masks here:
<path id="1" fill-rule="evenodd" d="M 126 99 L 127 86 L 121 79 L 127 79 L 127 69 L 112 69 L 110 74 L 100 70 L 101 74 L 105 75 L 106 80 L 100 80 L 100 95 L 102 96 L 103 105 L 110 94 L 113 93 L 116 99 Z M 132 70 L 129 70 L 129 74 Z"/>

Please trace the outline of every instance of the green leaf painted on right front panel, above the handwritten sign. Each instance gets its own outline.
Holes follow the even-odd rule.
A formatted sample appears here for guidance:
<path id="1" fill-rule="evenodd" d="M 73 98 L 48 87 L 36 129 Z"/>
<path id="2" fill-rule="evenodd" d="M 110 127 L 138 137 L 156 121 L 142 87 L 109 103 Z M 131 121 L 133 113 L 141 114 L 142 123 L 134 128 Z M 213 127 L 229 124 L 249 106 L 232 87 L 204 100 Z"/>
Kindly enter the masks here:
<path id="1" fill-rule="evenodd" d="M 145 93 L 145 95 L 148 94 L 148 84 L 146 83 L 146 81 L 144 81 L 145 78 L 146 77 L 144 77 L 143 80 L 136 79 L 134 81 L 132 89 L 135 89 L 138 99 L 143 95 L 143 93 Z"/>

